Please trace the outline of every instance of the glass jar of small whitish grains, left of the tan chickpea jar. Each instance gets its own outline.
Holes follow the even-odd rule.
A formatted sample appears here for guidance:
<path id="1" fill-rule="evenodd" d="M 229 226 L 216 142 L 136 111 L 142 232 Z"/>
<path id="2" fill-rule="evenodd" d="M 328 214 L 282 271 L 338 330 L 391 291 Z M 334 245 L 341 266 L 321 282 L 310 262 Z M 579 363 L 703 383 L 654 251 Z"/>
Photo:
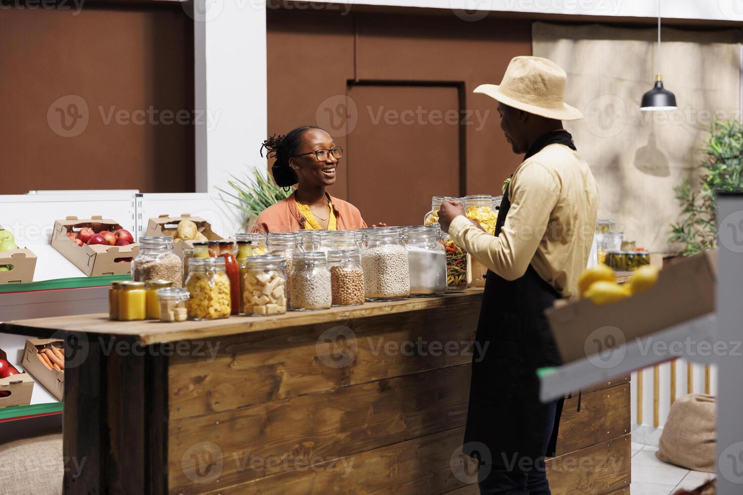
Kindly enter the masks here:
<path id="1" fill-rule="evenodd" d="M 291 268 L 291 309 L 310 311 L 333 305 L 325 252 L 295 252 Z"/>

